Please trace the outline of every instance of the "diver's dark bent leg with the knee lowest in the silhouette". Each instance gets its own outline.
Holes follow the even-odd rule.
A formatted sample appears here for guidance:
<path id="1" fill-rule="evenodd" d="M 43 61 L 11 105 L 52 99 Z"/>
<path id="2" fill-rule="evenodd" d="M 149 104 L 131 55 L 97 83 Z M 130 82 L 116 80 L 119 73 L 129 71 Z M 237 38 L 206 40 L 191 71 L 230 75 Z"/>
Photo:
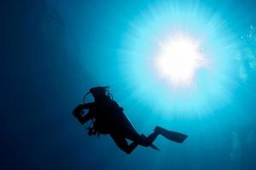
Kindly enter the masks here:
<path id="1" fill-rule="evenodd" d="M 110 136 L 112 137 L 115 144 L 119 146 L 119 149 L 124 150 L 127 154 L 131 154 L 131 151 L 137 147 L 137 143 L 133 142 L 128 144 L 126 139 L 120 136 L 118 133 L 111 133 Z"/>

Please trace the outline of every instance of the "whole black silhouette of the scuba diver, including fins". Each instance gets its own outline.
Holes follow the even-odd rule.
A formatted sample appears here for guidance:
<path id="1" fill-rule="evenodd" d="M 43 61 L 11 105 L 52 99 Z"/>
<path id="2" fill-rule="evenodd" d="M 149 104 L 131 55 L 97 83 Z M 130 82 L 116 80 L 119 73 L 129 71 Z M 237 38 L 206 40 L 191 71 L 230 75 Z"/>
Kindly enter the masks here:
<path id="1" fill-rule="evenodd" d="M 150 146 L 154 150 L 159 150 L 153 144 L 154 139 L 159 134 L 177 143 L 183 143 L 188 137 L 186 134 L 169 131 L 158 126 L 154 128 L 154 132 L 149 134 L 148 137 L 139 134 L 128 117 L 125 116 L 124 109 L 113 100 L 108 87 L 90 88 L 90 91 L 84 95 L 84 99 L 88 94 L 92 94 L 95 101 L 78 105 L 73 110 L 73 116 L 78 118 L 81 124 L 92 120 L 92 127 L 88 128 L 90 136 L 101 133 L 109 134 L 119 146 L 119 149 L 124 150 L 127 154 L 130 154 L 137 145 Z M 89 111 L 84 115 L 84 110 L 86 109 Z M 132 141 L 131 144 L 126 139 L 130 139 Z"/>

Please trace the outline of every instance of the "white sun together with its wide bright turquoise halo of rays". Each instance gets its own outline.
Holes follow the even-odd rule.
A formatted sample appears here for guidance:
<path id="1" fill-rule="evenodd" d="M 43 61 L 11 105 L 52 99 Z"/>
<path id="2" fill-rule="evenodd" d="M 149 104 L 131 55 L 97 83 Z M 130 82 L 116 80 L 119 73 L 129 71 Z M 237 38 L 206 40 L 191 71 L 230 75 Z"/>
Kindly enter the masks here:
<path id="1" fill-rule="evenodd" d="M 230 104 L 242 49 L 233 22 L 205 5 L 168 1 L 131 23 L 119 68 L 134 101 L 163 116 L 202 116 Z"/>

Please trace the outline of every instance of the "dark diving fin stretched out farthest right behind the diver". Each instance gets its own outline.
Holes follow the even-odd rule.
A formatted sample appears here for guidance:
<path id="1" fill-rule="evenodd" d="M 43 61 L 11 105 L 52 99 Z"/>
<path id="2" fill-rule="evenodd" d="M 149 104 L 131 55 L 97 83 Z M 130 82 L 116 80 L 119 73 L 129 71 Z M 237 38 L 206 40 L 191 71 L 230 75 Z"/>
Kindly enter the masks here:
<path id="1" fill-rule="evenodd" d="M 163 135 L 166 139 L 177 143 L 183 143 L 183 141 L 188 138 L 188 135 L 186 134 L 166 130 L 163 127 L 155 127 L 155 131 Z"/>

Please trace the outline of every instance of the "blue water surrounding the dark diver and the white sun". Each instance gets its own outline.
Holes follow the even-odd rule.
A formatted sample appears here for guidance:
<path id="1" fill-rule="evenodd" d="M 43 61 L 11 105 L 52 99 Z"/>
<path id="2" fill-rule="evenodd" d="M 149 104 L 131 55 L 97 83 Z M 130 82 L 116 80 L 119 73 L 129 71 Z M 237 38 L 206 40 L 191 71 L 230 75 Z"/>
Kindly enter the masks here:
<path id="1" fill-rule="evenodd" d="M 253 1 L 1 2 L 1 169 L 256 168 L 256 4 Z M 211 71 L 196 90 L 154 77 L 154 38 L 205 37 Z M 159 38 L 157 37 L 157 38 Z M 152 71 L 152 72 L 151 72 Z M 186 133 L 183 144 L 126 155 L 72 116 L 91 87 L 109 85 L 139 133 Z M 171 95 L 172 94 L 172 95 Z M 91 97 L 88 100 L 92 100 Z"/>

